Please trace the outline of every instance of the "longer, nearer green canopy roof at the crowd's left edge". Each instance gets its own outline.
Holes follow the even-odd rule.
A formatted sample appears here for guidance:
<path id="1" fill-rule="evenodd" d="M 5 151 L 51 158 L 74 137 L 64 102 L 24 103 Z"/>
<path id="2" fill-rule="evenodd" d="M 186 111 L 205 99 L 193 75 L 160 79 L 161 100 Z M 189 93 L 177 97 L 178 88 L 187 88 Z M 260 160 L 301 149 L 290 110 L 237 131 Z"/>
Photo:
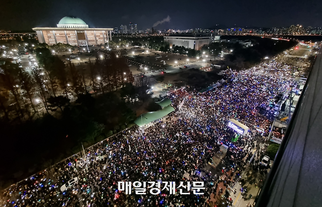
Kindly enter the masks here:
<path id="1" fill-rule="evenodd" d="M 145 124 L 148 124 L 152 121 L 158 120 L 158 119 L 162 118 L 163 116 L 170 114 L 174 110 L 175 109 L 172 106 L 167 106 L 167 107 L 164 107 L 160 111 L 148 112 L 148 113 L 138 116 L 138 118 L 134 121 L 134 123 L 136 123 L 138 126 L 143 126 Z"/>

